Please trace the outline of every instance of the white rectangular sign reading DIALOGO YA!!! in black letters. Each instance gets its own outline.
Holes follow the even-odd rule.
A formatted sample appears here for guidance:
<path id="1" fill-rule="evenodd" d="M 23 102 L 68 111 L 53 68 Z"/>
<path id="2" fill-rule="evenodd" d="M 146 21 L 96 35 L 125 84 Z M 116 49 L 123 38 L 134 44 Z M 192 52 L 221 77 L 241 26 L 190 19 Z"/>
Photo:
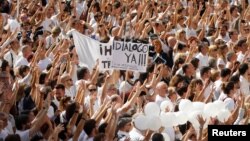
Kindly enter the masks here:
<path id="1" fill-rule="evenodd" d="M 148 45 L 114 41 L 111 67 L 119 70 L 146 72 Z"/>

